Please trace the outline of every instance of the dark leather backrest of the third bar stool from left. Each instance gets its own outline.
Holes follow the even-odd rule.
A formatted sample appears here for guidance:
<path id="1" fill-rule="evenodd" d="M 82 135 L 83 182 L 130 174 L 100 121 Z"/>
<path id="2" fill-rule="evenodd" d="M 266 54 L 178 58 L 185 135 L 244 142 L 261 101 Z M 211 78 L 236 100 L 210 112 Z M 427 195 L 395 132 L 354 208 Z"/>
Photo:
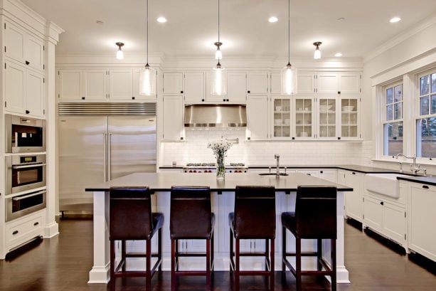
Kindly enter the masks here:
<path id="1" fill-rule="evenodd" d="M 236 186 L 235 238 L 275 238 L 275 187 Z"/>

